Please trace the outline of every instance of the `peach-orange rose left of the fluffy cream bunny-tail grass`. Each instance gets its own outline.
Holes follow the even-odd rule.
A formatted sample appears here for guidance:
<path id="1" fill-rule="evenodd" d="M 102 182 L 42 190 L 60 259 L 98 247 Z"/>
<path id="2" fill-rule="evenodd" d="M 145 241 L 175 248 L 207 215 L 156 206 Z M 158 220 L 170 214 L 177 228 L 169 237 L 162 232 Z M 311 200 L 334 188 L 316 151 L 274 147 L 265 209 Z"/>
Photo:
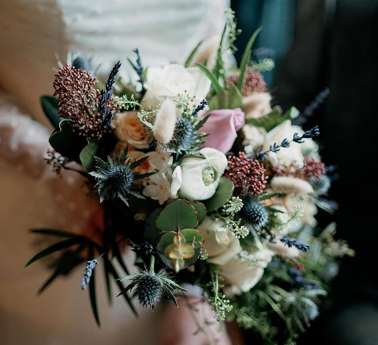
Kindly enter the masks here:
<path id="1" fill-rule="evenodd" d="M 150 137 L 145 132 L 143 124 L 139 121 L 136 111 L 126 111 L 115 114 L 112 121 L 112 128 L 116 137 L 128 142 L 135 148 L 143 149 L 150 147 Z"/>

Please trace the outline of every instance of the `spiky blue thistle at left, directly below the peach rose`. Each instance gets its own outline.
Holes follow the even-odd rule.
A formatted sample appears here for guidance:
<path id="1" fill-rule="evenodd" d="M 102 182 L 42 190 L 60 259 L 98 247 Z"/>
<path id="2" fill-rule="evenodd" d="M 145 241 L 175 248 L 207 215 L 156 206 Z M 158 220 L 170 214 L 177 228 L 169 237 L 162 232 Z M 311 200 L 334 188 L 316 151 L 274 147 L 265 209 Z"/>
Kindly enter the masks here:
<path id="1" fill-rule="evenodd" d="M 130 163 L 130 158 L 126 156 L 128 145 L 119 158 L 119 151 L 116 150 L 114 160 L 108 156 L 107 162 L 104 162 L 98 157 L 96 159 L 96 171 L 90 173 L 97 181 L 96 188 L 102 203 L 107 199 L 120 198 L 126 205 L 128 205 L 127 198 L 133 195 L 137 198 L 144 199 L 144 197 L 137 193 L 136 186 L 133 182 L 138 179 L 143 179 L 154 173 L 139 174 L 132 170 L 142 164 L 148 157 L 143 157 L 133 163 Z"/>

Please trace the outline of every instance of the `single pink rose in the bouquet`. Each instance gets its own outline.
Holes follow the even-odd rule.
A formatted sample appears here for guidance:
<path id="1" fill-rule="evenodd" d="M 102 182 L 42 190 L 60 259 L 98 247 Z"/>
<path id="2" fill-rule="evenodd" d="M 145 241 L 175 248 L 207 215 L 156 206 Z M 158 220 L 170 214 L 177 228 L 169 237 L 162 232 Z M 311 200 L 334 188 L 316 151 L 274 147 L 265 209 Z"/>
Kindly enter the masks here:
<path id="1" fill-rule="evenodd" d="M 202 147 L 213 147 L 227 153 L 237 137 L 236 132 L 244 126 L 245 114 L 240 108 L 218 109 L 209 111 L 201 118 L 209 113 L 210 117 L 200 129 L 201 132 L 210 133 Z"/>

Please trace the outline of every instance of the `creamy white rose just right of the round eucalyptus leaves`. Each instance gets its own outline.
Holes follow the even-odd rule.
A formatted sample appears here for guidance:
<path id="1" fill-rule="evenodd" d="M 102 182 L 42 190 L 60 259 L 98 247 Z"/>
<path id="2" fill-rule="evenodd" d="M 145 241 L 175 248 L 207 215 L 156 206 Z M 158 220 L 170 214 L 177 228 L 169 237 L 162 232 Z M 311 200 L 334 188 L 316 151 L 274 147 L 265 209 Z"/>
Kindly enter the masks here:
<path id="1" fill-rule="evenodd" d="M 206 249 L 209 258 L 208 262 L 224 265 L 242 250 L 239 240 L 232 235 L 232 231 L 226 228 L 223 219 L 211 219 L 206 217 L 197 226 L 205 237 L 203 247 Z"/>

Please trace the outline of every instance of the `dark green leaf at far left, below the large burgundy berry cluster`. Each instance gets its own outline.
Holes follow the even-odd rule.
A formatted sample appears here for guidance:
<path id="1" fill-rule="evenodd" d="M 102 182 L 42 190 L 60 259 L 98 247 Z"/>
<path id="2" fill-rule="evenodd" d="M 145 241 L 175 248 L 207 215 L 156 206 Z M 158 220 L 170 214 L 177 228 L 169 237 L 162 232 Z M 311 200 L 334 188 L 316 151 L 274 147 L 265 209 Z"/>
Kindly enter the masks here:
<path id="1" fill-rule="evenodd" d="M 86 138 L 74 132 L 72 121 L 62 120 L 49 138 L 55 151 L 69 160 L 79 161 L 80 152 L 88 144 Z"/>

